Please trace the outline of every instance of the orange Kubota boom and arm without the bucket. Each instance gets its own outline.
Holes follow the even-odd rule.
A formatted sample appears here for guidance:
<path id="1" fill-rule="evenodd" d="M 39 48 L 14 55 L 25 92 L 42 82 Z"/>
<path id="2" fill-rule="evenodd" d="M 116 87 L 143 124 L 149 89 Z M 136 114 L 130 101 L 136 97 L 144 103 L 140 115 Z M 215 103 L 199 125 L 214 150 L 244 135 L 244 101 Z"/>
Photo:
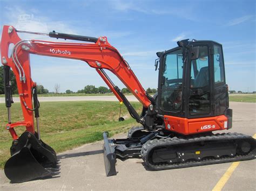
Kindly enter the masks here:
<path id="1" fill-rule="evenodd" d="M 57 43 L 43 40 L 22 40 L 19 38 L 17 32 L 43 34 L 53 38 L 82 40 L 89 41 L 91 43 Z M 14 49 L 12 50 L 9 58 L 8 52 L 10 44 L 14 44 Z M 84 37 L 73 34 L 57 33 L 55 31 L 50 32 L 49 34 L 37 33 L 16 30 L 13 26 L 4 26 L 1 50 L 3 65 L 6 69 L 9 69 L 10 67 L 16 76 L 18 94 L 21 100 L 24 116 L 24 121 L 12 123 L 10 115 L 11 104 L 6 105 L 8 106 L 9 114 L 9 123 L 6 125 L 6 128 L 10 131 L 14 140 L 18 138 L 14 130 L 17 126 L 26 126 L 26 131 L 35 133 L 33 123 L 33 111 L 35 109 L 32 107 L 32 96 L 34 91 L 33 89 L 36 88 L 36 83 L 33 82 L 31 78 L 30 54 L 85 61 L 90 67 L 96 69 L 97 73 L 106 82 L 107 86 L 109 86 L 118 100 L 120 102 L 124 102 L 132 117 L 135 118 L 137 122 L 145 125 L 145 119 L 143 119 L 143 116 L 139 116 L 137 114 L 132 105 L 122 94 L 122 91 L 115 86 L 109 76 L 107 76 L 104 69 L 110 70 L 114 75 L 116 75 L 120 81 L 129 88 L 131 93 L 140 101 L 140 103 L 143 104 L 145 109 L 149 108 L 150 105 L 153 104 L 153 99 L 150 95 L 147 95 L 129 64 L 123 59 L 117 49 L 108 43 L 106 37 Z M 7 78 L 6 81 L 8 81 Z M 6 100 L 10 100 L 10 96 L 8 95 L 9 94 L 6 94 Z"/>

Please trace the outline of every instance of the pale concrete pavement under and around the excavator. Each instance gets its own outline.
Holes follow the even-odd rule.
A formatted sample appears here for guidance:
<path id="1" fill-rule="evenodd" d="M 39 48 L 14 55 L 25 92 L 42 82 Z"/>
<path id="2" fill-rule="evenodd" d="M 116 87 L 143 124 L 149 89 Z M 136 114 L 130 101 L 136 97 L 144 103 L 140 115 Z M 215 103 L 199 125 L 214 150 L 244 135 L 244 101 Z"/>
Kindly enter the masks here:
<path id="1" fill-rule="evenodd" d="M 256 104 L 232 102 L 230 107 L 233 109 L 230 132 L 253 136 Z M 56 178 L 14 184 L 0 171 L 0 190 L 212 190 L 232 164 L 152 172 L 144 168 L 142 159 L 118 159 L 117 176 L 106 177 L 102 144 L 87 144 L 59 153 L 61 169 Z M 255 190 L 255 177 L 256 160 L 242 161 L 223 190 Z"/>

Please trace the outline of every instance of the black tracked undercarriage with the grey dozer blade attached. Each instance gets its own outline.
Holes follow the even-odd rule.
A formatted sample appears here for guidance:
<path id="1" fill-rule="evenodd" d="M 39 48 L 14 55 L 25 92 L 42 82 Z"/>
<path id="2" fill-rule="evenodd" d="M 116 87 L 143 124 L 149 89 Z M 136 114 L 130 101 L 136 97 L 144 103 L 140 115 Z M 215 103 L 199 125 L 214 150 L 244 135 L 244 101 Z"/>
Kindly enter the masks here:
<path id="1" fill-rule="evenodd" d="M 255 158 L 256 142 L 241 133 L 205 133 L 200 135 L 174 135 L 163 130 L 138 130 L 142 137 L 107 139 L 104 133 L 106 175 L 116 175 L 116 158 L 142 158 L 153 171 L 211 165 Z M 131 133 L 130 133 L 131 134 Z M 109 149 L 106 149 L 109 148 Z"/>

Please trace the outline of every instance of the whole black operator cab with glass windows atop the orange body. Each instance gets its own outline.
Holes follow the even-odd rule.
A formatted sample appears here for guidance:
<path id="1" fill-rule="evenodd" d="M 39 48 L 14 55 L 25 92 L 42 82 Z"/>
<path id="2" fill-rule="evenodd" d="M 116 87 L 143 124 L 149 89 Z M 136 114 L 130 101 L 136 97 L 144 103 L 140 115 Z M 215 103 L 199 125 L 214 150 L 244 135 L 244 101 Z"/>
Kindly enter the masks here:
<path id="1" fill-rule="evenodd" d="M 162 115 L 200 118 L 224 115 L 228 108 L 222 45 L 182 40 L 157 53 L 158 105 Z"/>

